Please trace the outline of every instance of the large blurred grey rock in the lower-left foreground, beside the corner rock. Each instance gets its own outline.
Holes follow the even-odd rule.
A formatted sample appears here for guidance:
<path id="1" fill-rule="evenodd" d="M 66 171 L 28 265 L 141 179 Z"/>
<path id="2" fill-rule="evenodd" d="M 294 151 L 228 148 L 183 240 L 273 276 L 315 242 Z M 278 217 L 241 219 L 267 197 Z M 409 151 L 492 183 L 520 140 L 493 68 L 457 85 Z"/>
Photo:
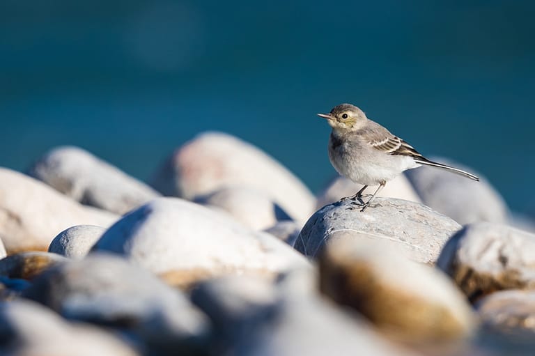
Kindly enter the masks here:
<path id="1" fill-rule="evenodd" d="M 111 254 L 51 268 L 22 296 L 65 318 L 124 329 L 160 348 L 192 352 L 208 334 L 206 318 L 182 293 Z"/>

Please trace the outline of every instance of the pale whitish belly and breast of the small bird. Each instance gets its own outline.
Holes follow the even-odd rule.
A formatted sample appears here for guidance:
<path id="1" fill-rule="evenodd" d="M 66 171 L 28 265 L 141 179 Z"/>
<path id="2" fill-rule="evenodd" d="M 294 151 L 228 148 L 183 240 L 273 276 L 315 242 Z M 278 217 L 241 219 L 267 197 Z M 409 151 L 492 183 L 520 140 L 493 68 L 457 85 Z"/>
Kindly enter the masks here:
<path id="1" fill-rule="evenodd" d="M 351 154 L 348 153 L 351 152 Z M 366 151 L 366 155 L 359 155 L 361 150 L 341 145 L 335 150 L 329 144 L 329 160 L 338 173 L 362 185 L 378 185 L 389 181 L 401 172 L 419 167 L 411 157 L 387 155 L 379 150 Z"/>

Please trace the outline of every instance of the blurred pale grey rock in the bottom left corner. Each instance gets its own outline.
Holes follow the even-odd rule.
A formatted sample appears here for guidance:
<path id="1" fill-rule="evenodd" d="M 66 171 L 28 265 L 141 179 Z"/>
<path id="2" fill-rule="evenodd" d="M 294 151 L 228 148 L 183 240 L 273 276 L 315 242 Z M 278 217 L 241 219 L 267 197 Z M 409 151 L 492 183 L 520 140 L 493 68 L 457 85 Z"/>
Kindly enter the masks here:
<path id="1" fill-rule="evenodd" d="M 0 354 L 27 356 L 140 355 L 118 336 L 68 323 L 26 300 L 0 302 Z"/>

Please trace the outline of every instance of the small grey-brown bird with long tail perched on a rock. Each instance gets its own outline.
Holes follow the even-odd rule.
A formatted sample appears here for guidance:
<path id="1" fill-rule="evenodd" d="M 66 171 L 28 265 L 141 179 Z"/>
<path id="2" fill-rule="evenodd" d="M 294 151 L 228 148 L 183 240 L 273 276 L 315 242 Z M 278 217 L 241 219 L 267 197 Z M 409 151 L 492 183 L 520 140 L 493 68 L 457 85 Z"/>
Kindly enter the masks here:
<path id="1" fill-rule="evenodd" d="M 341 176 L 363 185 L 355 195 L 342 200 L 358 200 L 361 211 L 370 206 L 387 181 L 407 169 L 421 165 L 445 169 L 479 181 L 472 173 L 428 160 L 407 141 L 367 118 L 364 111 L 355 105 L 336 105 L 329 114 L 318 116 L 327 119 L 327 123 L 332 127 L 328 150 L 332 166 Z M 379 186 L 364 203 L 362 193 L 370 185 Z"/>

